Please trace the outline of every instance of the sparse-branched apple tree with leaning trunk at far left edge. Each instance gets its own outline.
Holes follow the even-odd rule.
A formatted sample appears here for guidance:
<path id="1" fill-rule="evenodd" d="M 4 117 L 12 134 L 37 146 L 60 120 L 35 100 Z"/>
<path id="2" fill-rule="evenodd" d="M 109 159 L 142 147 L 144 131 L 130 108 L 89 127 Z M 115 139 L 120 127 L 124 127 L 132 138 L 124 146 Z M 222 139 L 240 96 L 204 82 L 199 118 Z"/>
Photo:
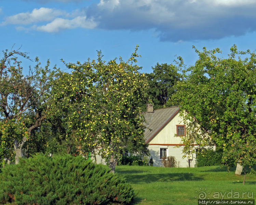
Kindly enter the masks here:
<path id="1" fill-rule="evenodd" d="M 18 56 L 29 59 L 27 53 L 5 50 L 0 60 L 0 159 L 15 163 L 22 157 L 22 147 L 45 118 L 47 97 L 54 72 L 49 62 L 42 68 L 38 58 L 35 68 L 23 74 Z"/>

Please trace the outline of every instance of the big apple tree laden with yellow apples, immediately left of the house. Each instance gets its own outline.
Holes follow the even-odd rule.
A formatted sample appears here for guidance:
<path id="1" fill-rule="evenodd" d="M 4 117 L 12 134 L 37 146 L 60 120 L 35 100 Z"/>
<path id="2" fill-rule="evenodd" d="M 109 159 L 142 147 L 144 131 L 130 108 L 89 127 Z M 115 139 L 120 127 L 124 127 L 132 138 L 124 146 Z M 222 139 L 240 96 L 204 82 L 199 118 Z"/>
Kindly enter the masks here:
<path id="1" fill-rule="evenodd" d="M 136 48 L 137 50 L 137 48 Z M 147 81 L 139 73 L 136 51 L 124 62 L 98 60 L 67 63 L 52 89 L 52 115 L 59 116 L 63 139 L 75 140 L 85 157 L 98 153 L 112 171 L 123 150 L 147 154 L 144 117 L 138 106 L 146 100 Z"/>

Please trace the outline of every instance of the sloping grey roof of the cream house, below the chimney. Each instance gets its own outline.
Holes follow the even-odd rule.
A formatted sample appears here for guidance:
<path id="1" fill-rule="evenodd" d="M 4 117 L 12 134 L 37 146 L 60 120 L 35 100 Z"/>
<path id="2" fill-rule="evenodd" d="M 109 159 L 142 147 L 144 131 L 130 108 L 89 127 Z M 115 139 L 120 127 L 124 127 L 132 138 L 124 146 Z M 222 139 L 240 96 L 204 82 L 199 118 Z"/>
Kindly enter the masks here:
<path id="1" fill-rule="evenodd" d="M 145 112 L 145 125 L 144 138 L 148 143 L 157 133 L 169 123 L 173 117 L 178 113 L 179 107 L 173 106 L 169 108 L 162 108 L 154 110 L 153 112 Z"/>

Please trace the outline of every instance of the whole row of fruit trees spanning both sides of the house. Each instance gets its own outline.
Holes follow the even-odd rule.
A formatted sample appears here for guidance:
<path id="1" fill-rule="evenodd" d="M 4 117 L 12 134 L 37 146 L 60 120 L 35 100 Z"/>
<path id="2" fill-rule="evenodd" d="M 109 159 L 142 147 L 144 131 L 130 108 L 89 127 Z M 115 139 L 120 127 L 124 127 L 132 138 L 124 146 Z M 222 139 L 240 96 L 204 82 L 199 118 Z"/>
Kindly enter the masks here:
<path id="1" fill-rule="evenodd" d="M 256 56 L 234 45 L 228 58 L 220 50 L 199 51 L 195 65 L 159 64 L 140 73 L 137 47 L 127 61 L 88 59 L 64 63 L 68 72 L 50 62 L 26 74 L 19 50 L 5 50 L 0 62 L 0 159 L 18 163 L 33 153 L 66 152 L 105 158 L 114 172 L 122 153 L 148 154 L 143 111 L 179 105 L 187 126 L 185 154 L 193 144 L 216 144 L 223 163 L 253 165 L 256 154 Z M 200 125 L 198 127 L 198 125 Z M 198 135 L 198 133 L 201 133 Z M 207 134 L 206 134 L 207 133 Z M 25 153 L 23 151 L 26 151 Z"/>

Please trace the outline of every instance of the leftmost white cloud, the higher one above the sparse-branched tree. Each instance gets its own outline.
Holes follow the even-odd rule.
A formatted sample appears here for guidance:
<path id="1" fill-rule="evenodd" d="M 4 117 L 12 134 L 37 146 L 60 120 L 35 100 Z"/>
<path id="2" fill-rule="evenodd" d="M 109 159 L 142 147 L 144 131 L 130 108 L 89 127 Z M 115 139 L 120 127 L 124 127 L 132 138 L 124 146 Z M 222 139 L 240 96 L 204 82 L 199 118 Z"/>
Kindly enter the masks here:
<path id="1" fill-rule="evenodd" d="M 40 9 L 33 9 L 31 13 L 19 13 L 6 18 L 2 25 L 6 24 L 17 24 L 26 25 L 30 23 L 40 22 L 40 21 L 50 21 L 56 16 L 64 15 L 66 12 L 60 10 L 54 10 L 49 8 L 41 7 Z"/>

